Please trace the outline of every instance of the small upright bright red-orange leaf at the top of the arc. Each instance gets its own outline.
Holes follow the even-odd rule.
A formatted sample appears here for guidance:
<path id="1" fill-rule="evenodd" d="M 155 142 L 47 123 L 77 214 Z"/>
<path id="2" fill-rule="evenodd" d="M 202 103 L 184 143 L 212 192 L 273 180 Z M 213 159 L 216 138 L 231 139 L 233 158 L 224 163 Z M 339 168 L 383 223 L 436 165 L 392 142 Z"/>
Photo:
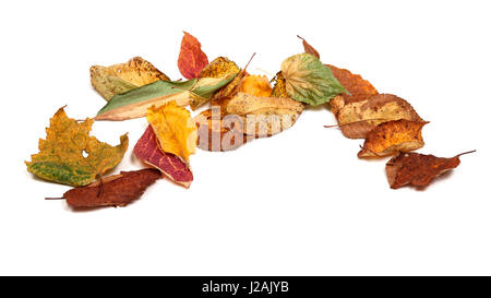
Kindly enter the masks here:
<path id="1" fill-rule="evenodd" d="M 201 70 L 208 64 L 206 53 L 201 50 L 201 44 L 196 37 L 184 32 L 179 52 L 178 68 L 185 79 L 195 79 Z"/>

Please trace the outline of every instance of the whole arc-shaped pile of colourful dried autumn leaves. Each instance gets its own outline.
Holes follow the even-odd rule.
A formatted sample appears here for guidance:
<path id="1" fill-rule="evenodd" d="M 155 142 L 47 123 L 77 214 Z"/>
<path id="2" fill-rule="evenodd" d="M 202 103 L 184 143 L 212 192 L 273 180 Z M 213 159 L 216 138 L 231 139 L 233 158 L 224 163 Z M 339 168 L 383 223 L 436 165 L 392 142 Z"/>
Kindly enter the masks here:
<path id="1" fill-rule="evenodd" d="M 301 38 L 299 36 L 299 38 Z M 91 82 L 107 104 L 94 118 L 77 121 L 60 108 L 50 119 L 39 153 L 26 162 L 39 178 L 73 186 L 62 198 L 73 207 L 124 206 L 166 177 L 184 188 L 193 181 L 190 155 L 196 147 L 230 151 L 295 124 L 308 106 L 327 104 L 343 134 L 364 139 L 359 158 L 394 155 L 386 164 L 392 188 L 426 187 L 459 164 L 459 155 L 440 158 L 410 153 L 424 145 L 428 123 L 409 103 L 379 94 L 358 74 L 323 64 L 303 38 L 304 52 L 285 59 L 268 80 L 250 74 L 226 57 L 208 62 L 200 41 L 184 32 L 178 68 L 188 81 L 171 81 L 135 57 L 110 67 L 91 68 Z M 251 58 L 252 59 L 252 58 Z M 195 117 L 191 110 L 208 105 Z M 104 176 L 128 150 L 128 136 L 111 146 L 89 135 L 94 121 L 146 117 L 147 129 L 133 154 L 149 168 Z"/>

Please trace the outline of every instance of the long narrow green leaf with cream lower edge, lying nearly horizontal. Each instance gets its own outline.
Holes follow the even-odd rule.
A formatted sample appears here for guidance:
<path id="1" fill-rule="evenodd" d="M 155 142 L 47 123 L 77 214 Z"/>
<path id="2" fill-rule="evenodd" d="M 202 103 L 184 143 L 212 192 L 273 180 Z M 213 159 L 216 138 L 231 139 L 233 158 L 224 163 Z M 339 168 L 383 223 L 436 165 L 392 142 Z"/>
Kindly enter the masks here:
<path id="1" fill-rule="evenodd" d="M 233 75 L 225 79 L 193 79 L 185 82 L 157 81 L 116 95 L 94 119 L 121 121 L 145 117 L 149 107 L 159 107 L 170 102 L 176 102 L 179 106 L 206 102 L 232 80 Z"/>

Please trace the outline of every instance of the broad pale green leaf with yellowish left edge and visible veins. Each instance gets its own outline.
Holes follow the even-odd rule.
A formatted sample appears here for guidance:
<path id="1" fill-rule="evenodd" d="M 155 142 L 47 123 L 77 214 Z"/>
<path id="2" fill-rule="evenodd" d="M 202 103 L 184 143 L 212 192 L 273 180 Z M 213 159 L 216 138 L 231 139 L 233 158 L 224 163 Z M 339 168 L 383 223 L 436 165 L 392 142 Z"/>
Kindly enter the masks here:
<path id="1" fill-rule="evenodd" d="M 310 53 L 298 53 L 282 63 L 285 88 L 290 98 L 309 105 L 330 102 L 346 92 L 330 68 Z"/>

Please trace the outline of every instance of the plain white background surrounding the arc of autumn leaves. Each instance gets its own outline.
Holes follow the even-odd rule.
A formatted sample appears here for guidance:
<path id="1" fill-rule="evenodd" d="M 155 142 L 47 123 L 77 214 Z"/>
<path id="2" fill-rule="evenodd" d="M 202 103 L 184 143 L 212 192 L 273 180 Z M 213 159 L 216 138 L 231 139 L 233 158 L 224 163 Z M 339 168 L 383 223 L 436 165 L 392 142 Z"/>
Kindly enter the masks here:
<path id="1" fill-rule="evenodd" d="M 490 7 L 488 1 L 2 2 L 1 274 L 491 274 Z M 24 160 L 56 110 L 93 117 L 105 100 L 88 69 L 141 56 L 171 79 L 182 31 L 209 60 L 274 74 L 304 37 L 325 63 L 407 99 L 431 121 L 420 153 L 462 157 L 424 191 L 391 190 L 386 158 L 357 158 L 332 112 L 304 111 L 288 131 L 237 151 L 191 157 L 194 182 L 159 180 L 127 207 L 73 212 L 67 186 Z M 271 76 L 270 76 L 271 78 Z M 130 148 L 145 119 L 97 122 Z"/>

